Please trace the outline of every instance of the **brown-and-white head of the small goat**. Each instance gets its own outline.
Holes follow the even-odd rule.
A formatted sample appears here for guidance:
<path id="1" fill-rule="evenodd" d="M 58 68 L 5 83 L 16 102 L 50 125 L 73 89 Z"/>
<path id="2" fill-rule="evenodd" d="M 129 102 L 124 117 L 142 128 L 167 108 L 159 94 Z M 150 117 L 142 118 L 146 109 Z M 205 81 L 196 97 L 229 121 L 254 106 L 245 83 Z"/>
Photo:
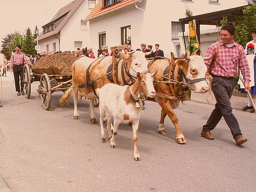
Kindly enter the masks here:
<path id="1" fill-rule="evenodd" d="M 148 73 L 141 74 L 140 72 L 137 73 L 137 88 L 139 90 L 140 94 L 144 94 L 147 97 L 153 98 L 156 95 L 156 91 L 154 89 L 153 85 L 153 76 L 156 74 L 152 73 L 150 74 L 149 71 Z M 135 83 L 135 86 L 136 86 Z"/>

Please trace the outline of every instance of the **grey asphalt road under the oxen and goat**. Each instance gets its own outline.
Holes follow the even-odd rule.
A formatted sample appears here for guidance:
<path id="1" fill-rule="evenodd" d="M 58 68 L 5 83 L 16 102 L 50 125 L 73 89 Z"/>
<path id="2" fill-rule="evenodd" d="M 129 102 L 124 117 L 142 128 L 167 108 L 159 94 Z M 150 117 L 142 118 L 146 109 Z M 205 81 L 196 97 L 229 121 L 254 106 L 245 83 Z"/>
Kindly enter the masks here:
<path id="1" fill-rule="evenodd" d="M 32 83 L 31 99 L 17 96 L 12 77 L 3 78 L 0 108 L 0 175 L 14 192 L 85 191 L 255 191 L 255 113 L 233 111 L 247 143 L 239 147 L 224 119 L 212 131 L 215 140 L 200 137 L 213 105 L 186 102 L 175 109 L 187 139 L 179 145 L 168 117 L 167 134 L 157 133 L 160 106 L 146 102 L 133 159 L 131 127 L 119 125 L 116 149 L 102 143 L 99 123 L 90 123 L 89 102 L 79 102 L 80 120 L 52 94 L 49 111 L 42 108 Z M 96 108 L 97 120 L 99 110 Z M 1 131 L 3 132 L 1 134 Z M 0 189 L 1 190 L 1 189 Z"/>

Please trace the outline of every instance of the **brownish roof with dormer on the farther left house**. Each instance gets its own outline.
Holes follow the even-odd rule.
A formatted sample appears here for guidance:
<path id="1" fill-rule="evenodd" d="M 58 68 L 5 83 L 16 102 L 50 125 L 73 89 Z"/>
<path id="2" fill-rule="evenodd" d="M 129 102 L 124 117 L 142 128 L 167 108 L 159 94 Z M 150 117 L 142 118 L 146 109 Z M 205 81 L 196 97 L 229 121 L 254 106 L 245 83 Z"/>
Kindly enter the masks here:
<path id="1" fill-rule="evenodd" d="M 65 14 L 67 14 L 67 15 L 64 16 L 64 18 L 61 20 L 61 22 L 58 24 L 58 26 L 56 26 L 56 28 L 54 30 L 52 30 L 48 33 L 45 33 L 45 34 L 43 34 L 43 32 L 41 32 L 40 35 L 38 35 L 38 40 L 47 38 L 47 37 L 52 36 L 52 35 L 56 35 L 58 32 L 60 32 L 62 27 L 67 23 L 69 18 L 73 15 L 73 13 L 81 5 L 81 3 L 83 3 L 83 1 L 84 0 L 73 0 L 72 2 L 67 4 L 66 6 L 62 7 L 55 14 L 55 16 L 52 18 L 52 20 L 50 20 L 50 22 L 48 22 L 47 24 L 45 24 L 42 27 L 45 27 L 45 26 L 49 25 L 50 23 L 54 23 L 56 20 L 58 20 L 60 17 L 64 16 Z"/>

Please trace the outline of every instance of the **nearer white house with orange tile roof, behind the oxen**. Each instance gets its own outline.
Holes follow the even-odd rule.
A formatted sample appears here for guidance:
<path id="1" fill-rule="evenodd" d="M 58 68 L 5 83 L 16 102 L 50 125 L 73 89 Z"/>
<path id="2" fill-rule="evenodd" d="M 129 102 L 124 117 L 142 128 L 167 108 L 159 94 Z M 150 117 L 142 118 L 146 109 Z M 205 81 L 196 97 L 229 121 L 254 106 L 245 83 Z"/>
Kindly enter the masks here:
<path id="1" fill-rule="evenodd" d="M 247 4 L 247 0 L 99 0 L 84 21 L 90 22 L 89 45 L 94 50 L 102 45 L 127 43 L 137 49 L 146 43 L 153 48 L 154 44 L 160 44 L 165 56 L 170 56 L 171 51 L 179 56 L 178 34 L 182 27 L 178 20 L 185 16 L 186 8 L 199 15 Z M 188 26 L 185 28 L 187 31 Z M 201 30 L 215 32 L 212 28 L 202 26 Z"/>

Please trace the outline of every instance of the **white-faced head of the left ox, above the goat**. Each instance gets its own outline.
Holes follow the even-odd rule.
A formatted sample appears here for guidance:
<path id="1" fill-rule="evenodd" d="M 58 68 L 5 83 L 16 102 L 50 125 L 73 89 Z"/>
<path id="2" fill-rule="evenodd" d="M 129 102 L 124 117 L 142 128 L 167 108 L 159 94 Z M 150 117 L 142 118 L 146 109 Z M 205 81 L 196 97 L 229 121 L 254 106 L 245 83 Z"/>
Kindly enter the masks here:
<path id="1" fill-rule="evenodd" d="M 137 72 L 143 73 L 145 70 L 148 70 L 148 62 L 143 52 L 132 51 L 128 52 L 128 54 L 120 52 L 120 54 L 121 58 L 124 59 L 131 68 L 129 72 L 132 76 L 136 77 Z"/>

